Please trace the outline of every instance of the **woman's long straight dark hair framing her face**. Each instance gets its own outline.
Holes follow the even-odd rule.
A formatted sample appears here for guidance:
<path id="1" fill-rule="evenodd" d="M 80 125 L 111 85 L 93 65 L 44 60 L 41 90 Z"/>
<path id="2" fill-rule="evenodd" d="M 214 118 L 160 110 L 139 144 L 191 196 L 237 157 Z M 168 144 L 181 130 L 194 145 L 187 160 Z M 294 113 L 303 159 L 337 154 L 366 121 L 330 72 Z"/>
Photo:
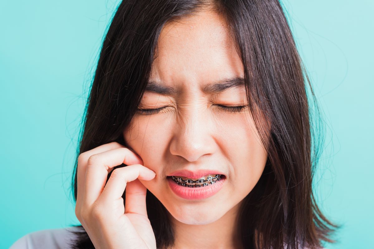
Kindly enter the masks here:
<path id="1" fill-rule="evenodd" d="M 335 242 L 331 236 L 339 226 L 322 214 L 312 191 L 323 145 L 322 122 L 312 125 L 314 117 L 319 119 L 318 104 L 278 0 L 122 1 L 102 44 L 77 157 L 108 142 L 126 145 L 123 130 L 140 103 L 163 26 L 206 7 L 229 25 L 243 63 L 249 108 L 268 148 L 264 172 L 238 216 L 242 245 L 315 249 L 322 247 L 322 240 Z M 263 117 L 271 123 L 270 134 L 260 122 Z M 75 199 L 76 166 L 77 158 Z M 148 190 L 146 202 L 157 248 L 172 246 L 166 208 Z M 73 248 L 94 248 L 81 228 Z"/>

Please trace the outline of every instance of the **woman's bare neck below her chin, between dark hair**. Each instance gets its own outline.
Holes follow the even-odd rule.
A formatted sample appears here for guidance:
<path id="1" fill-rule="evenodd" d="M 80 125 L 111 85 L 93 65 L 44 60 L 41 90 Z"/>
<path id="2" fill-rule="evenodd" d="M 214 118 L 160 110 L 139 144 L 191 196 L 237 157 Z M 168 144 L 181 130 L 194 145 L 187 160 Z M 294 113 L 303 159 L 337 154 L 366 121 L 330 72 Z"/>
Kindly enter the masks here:
<path id="1" fill-rule="evenodd" d="M 242 249 L 237 230 L 237 216 L 241 203 L 242 201 L 210 224 L 184 224 L 169 214 L 175 236 L 174 246 L 170 249 Z"/>

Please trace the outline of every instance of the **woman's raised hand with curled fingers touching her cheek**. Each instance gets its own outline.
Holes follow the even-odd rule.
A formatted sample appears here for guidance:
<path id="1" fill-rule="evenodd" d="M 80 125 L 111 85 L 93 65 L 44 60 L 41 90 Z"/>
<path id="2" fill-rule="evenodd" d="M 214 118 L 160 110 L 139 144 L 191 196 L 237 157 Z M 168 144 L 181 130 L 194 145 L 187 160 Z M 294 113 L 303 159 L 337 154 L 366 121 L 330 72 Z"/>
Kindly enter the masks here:
<path id="1" fill-rule="evenodd" d="M 122 163 L 128 166 L 113 170 Z M 152 180 L 156 173 L 142 164 L 138 155 L 117 142 L 79 155 L 75 214 L 96 249 L 156 249 L 145 206 L 147 189 L 139 181 Z"/>

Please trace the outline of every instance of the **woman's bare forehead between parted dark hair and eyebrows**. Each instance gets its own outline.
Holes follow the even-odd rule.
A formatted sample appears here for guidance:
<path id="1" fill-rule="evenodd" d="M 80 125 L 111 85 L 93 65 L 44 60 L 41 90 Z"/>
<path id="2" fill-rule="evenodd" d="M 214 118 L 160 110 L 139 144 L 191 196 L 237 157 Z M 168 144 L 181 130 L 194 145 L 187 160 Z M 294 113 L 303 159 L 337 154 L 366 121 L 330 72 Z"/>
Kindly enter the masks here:
<path id="1" fill-rule="evenodd" d="M 203 88 L 242 75 L 242 62 L 223 16 L 202 10 L 163 27 L 151 82 Z"/>

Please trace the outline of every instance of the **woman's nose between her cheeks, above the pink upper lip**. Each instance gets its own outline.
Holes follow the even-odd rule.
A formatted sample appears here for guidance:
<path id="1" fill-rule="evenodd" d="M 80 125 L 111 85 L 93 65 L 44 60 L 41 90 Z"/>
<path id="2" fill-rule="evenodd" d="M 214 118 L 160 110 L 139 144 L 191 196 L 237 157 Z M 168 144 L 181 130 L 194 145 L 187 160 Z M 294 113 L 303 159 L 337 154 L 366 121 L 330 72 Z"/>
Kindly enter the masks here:
<path id="1" fill-rule="evenodd" d="M 203 155 L 213 154 L 217 144 L 209 115 L 197 108 L 179 115 L 183 117 L 176 122 L 170 143 L 171 154 L 179 155 L 189 162 L 197 161 Z"/>

